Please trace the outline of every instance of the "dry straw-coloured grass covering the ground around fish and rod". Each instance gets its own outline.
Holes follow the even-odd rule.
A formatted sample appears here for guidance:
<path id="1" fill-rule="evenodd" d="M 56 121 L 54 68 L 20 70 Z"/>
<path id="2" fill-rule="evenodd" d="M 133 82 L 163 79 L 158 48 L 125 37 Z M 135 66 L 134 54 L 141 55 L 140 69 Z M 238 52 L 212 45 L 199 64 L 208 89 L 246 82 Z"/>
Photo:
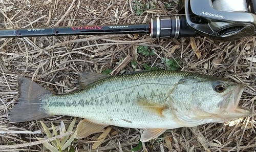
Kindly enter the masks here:
<path id="1" fill-rule="evenodd" d="M 133 1 L 125 0 L 7 0 L 0 2 L 0 28 L 146 23 L 154 16 L 177 13 L 175 7 L 166 11 L 163 3 L 168 1 L 157 1 L 155 10 L 145 12 L 144 16 L 136 16 L 131 9 Z M 40 133 L 43 130 L 39 121 L 12 123 L 8 120 L 8 113 L 17 101 L 18 75 L 30 78 L 52 92 L 66 94 L 78 89 L 74 83 L 78 72 L 101 73 L 109 68 L 115 70 L 114 74 L 120 74 L 121 70 L 132 70 L 129 62 L 131 57 L 141 70 L 143 63 L 166 69 L 160 57 L 175 58 L 181 60 L 179 70 L 242 82 L 246 90 L 240 103 L 254 111 L 254 37 L 222 43 L 203 37 L 158 40 L 142 34 L 138 38 L 134 36 L 135 39 L 131 38 L 133 36 L 0 39 L 0 144 L 8 147 L 0 151 L 47 150 L 36 139 L 46 137 L 45 133 Z M 157 55 L 145 57 L 138 54 L 136 48 L 140 45 L 150 47 Z M 198 48 L 198 51 L 195 53 L 192 48 Z M 126 60 L 120 66 L 117 62 L 122 59 Z M 61 120 L 67 125 L 72 121 L 70 117 L 58 116 L 44 119 L 44 123 L 50 128 L 51 122 L 57 126 Z M 252 116 L 225 124 L 172 129 L 143 146 L 148 151 L 255 151 L 254 129 L 255 118 Z M 110 137 L 106 137 L 98 149 L 90 150 L 100 134 L 76 140 L 72 146 L 78 151 L 131 151 L 139 144 L 138 129 L 113 126 Z"/>

